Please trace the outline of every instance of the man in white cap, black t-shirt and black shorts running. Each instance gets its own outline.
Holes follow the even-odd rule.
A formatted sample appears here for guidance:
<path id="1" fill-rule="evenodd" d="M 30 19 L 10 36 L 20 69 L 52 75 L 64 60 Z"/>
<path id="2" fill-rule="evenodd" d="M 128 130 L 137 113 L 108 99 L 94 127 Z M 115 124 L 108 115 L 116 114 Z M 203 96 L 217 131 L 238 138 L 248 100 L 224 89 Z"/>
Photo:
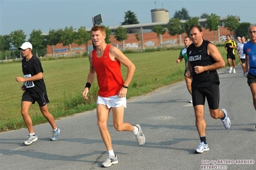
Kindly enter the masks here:
<path id="1" fill-rule="evenodd" d="M 30 114 L 28 113 L 31 104 L 35 104 L 35 102 L 38 103 L 40 111 L 53 128 L 51 140 L 56 141 L 60 135 L 60 129 L 56 127 L 55 119 L 48 111 L 47 103 L 49 103 L 49 100 L 46 92 L 46 84 L 42 76 L 44 72 L 42 64 L 36 56 L 33 56 L 31 52 L 32 44 L 30 42 L 22 43 L 19 50 L 21 50 L 23 58 L 22 72 L 24 77 L 16 77 L 16 81 L 24 82 L 21 86 L 21 89 L 24 91 L 21 100 L 21 114 L 28 128 L 28 132 L 30 133 L 28 139 L 24 141 L 24 144 L 30 145 L 38 139 L 33 129 Z"/>

